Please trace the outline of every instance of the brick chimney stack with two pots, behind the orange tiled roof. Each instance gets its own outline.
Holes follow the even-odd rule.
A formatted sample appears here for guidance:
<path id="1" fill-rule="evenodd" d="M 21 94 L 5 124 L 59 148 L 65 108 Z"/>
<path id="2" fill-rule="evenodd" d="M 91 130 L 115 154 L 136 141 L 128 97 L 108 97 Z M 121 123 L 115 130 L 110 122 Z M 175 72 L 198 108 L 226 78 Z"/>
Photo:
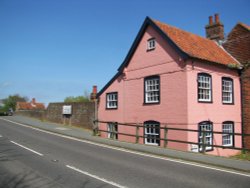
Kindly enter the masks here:
<path id="1" fill-rule="evenodd" d="M 224 25 L 220 22 L 219 14 L 215 14 L 214 19 L 213 22 L 213 17 L 209 16 L 209 23 L 205 27 L 206 37 L 219 42 L 224 39 Z"/>

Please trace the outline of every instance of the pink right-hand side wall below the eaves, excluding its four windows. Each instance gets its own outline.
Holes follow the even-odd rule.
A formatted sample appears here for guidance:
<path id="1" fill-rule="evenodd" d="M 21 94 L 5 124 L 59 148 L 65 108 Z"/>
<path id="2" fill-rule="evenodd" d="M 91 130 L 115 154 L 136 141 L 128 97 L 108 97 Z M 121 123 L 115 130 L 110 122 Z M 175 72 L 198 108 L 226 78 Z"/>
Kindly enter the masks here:
<path id="1" fill-rule="evenodd" d="M 188 83 L 188 128 L 197 129 L 198 123 L 202 121 L 212 121 L 213 130 L 222 132 L 222 122 L 233 121 L 235 133 L 241 133 L 241 99 L 240 99 L 240 80 L 236 70 L 230 70 L 225 67 L 213 66 L 199 62 L 188 62 L 187 65 L 187 83 Z M 212 77 L 212 103 L 198 102 L 197 97 L 197 74 L 208 73 Z M 222 77 L 233 79 L 234 85 L 234 104 L 226 105 L 222 103 Z M 198 134 L 189 133 L 188 140 L 197 142 Z M 222 145 L 222 135 L 214 134 L 215 145 Z M 235 136 L 235 146 L 241 147 L 241 137 Z M 188 150 L 191 149 L 189 146 Z M 230 156 L 237 154 L 237 150 L 214 148 L 208 152 L 214 155 Z"/>

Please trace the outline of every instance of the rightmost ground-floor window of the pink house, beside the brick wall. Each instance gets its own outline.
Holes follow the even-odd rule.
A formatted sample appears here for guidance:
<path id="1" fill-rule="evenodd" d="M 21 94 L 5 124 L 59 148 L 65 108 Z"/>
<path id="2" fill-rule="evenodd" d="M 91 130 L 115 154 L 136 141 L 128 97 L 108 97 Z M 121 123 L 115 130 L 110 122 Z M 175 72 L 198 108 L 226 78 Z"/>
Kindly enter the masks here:
<path id="1" fill-rule="evenodd" d="M 233 135 L 228 133 L 234 133 L 233 122 L 227 121 L 222 124 L 222 145 L 233 146 Z"/>

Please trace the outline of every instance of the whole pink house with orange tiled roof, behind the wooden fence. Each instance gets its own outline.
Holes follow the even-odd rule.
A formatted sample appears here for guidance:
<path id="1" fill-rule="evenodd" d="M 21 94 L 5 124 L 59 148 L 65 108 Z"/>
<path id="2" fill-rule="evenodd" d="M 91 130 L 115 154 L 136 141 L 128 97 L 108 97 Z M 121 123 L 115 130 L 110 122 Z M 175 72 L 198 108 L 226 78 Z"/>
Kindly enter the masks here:
<path id="1" fill-rule="evenodd" d="M 241 147 L 240 64 L 217 42 L 146 18 L 117 74 L 98 93 L 98 120 L 133 123 L 139 143 L 164 146 L 164 130 L 173 127 L 207 132 L 207 144 Z M 135 134 L 136 128 L 99 123 L 101 130 Z M 102 137 L 110 133 L 101 132 Z M 168 130 L 168 139 L 202 143 L 201 132 Z M 120 141 L 136 138 L 115 135 Z M 204 137 L 203 137 L 204 138 Z M 171 142 L 168 148 L 201 151 L 201 145 Z M 206 146 L 220 156 L 237 150 Z"/>

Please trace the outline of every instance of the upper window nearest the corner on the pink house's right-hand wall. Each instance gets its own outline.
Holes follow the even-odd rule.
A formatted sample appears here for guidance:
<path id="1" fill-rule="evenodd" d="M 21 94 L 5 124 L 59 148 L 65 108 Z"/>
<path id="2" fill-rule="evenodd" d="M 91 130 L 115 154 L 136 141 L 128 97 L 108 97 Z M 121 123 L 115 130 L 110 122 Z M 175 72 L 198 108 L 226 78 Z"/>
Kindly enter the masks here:
<path id="1" fill-rule="evenodd" d="M 211 102 L 212 101 L 212 78 L 209 74 L 198 74 L 198 101 Z"/>

